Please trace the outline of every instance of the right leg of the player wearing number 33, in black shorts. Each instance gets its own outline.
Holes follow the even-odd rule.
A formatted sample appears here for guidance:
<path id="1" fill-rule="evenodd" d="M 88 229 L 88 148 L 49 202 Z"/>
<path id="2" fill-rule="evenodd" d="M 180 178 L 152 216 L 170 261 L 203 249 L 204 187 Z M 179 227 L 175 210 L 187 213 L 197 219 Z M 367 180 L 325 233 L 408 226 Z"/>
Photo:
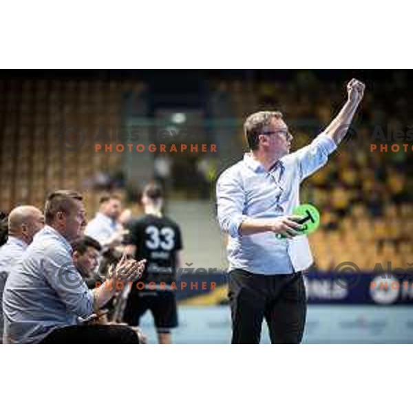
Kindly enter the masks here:
<path id="1" fill-rule="evenodd" d="M 158 291 L 151 299 L 151 312 L 155 320 L 158 342 L 171 344 L 171 329 L 178 326 L 178 306 L 173 291 Z"/>

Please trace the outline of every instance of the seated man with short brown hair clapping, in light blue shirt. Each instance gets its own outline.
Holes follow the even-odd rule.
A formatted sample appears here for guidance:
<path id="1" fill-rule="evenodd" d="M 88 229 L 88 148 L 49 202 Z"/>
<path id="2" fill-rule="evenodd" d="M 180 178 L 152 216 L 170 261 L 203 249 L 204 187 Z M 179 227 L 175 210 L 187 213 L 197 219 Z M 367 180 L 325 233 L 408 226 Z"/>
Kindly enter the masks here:
<path id="1" fill-rule="evenodd" d="M 118 263 L 99 288 L 89 290 L 72 261 L 70 242 L 85 227 L 82 196 L 55 191 L 45 204 L 45 227 L 13 267 L 3 294 L 8 343 L 138 343 L 127 326 L 79 325 L 114 296 L 116 282 L 140 277 L 144 262 Z M 112 285 L 112 287 L 111 287 Z"/>

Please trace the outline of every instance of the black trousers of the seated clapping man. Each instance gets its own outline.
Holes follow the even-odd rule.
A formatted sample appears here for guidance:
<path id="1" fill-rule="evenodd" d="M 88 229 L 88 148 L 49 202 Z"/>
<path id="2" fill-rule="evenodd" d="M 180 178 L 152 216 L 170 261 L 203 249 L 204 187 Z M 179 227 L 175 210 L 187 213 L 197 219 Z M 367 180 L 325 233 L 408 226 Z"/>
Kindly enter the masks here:
<path id="1" fill-rule="evenodd" d="M 139 344 L 139 340 L 128 326 L 91 324 L 56 328 L 41 344 Z"/>

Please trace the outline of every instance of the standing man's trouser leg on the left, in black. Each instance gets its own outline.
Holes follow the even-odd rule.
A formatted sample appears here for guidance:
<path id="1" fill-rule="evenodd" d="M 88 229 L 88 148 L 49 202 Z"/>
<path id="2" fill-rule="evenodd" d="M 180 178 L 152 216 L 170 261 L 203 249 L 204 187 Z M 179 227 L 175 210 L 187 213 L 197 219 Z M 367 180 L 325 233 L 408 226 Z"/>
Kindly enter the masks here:
<path id="1" fill-rule="evenodd" d="M 243 270 L 229 273 L 233 344 L 260 343 L 266 303 L 264 276 Z"/>

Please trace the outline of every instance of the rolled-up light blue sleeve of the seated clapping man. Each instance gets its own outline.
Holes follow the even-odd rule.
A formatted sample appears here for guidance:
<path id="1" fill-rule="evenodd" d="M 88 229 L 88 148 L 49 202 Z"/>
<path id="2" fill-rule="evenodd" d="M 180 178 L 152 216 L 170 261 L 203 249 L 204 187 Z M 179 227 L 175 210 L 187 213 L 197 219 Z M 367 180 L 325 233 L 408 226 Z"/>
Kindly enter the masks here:
<path id="1" fill-rule="evenodd" d="M 89 317 L 93 313 L 93 293 L 87 288 L 65 248 L 47 248 L 42 266 L 47 282 L 67 310 L 78 317 Z"/>

